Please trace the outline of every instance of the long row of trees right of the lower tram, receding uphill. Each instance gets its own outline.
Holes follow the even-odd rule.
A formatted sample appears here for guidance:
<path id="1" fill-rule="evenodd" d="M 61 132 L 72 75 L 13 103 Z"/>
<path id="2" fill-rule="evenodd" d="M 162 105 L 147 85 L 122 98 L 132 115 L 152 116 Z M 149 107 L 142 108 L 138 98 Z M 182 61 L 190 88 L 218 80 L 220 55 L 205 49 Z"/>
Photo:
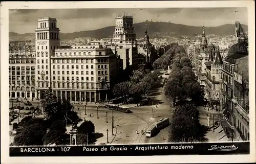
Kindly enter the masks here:
<path id="1" fill-rule="evenodd" d="M 182 46 L 175 50 L 172 72 L 164 87 L 165 95 L 175 107 L 169 128 L 169 142 L 206 141 L 207 128 L 199 122 L 197 105 L 203 100 L 203 92 L 197 82 L 190 59 Z"/>

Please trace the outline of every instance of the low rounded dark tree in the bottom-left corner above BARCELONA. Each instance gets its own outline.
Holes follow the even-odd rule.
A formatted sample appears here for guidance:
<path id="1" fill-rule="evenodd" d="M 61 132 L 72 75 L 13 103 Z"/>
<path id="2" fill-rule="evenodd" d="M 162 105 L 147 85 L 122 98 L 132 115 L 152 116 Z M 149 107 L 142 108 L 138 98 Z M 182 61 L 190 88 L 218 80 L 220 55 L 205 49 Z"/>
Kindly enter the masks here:
<path id="1" fill-rule="evenodd" d="M 14 137 L 14 145 L 29 146 L 43 145 L 42 138 L 46 133 L 46 128 L 40 124 L 32 124 L 22 129 L 20 134 Z"/>

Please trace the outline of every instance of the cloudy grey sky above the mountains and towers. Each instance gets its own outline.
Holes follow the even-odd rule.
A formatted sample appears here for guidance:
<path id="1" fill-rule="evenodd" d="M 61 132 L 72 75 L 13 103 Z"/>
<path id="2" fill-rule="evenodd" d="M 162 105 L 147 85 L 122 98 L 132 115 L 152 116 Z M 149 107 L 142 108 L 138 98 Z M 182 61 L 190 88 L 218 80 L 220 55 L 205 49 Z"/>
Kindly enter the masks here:
<path id="1" fill-rule="evenodd" d="M 57 19 L 62 33 L 115 26 L 123 12 L 133 15 L 134 24 L 145 20 L 165 21 L 189 26 L 215 27 L 225 24 L 248 25 L 247 8 L 129 8 L 129 9 L 15 9 L 9 10 L 9 31 L 34 33 L 37 18 Z"/>

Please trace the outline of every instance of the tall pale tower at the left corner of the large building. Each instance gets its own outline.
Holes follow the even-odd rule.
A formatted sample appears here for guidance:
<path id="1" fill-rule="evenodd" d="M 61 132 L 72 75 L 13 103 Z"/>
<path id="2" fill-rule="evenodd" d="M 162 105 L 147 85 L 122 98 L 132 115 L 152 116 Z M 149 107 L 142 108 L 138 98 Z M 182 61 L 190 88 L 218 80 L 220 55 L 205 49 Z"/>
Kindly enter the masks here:
<path id="1" fill-rule="evenodd" d="M 51 61 L 54 50 L 59 48 L 59 28 L 55 18 L 38 18 L 35 29 L 36 89 L 38 99 L 51 87 Z"/>

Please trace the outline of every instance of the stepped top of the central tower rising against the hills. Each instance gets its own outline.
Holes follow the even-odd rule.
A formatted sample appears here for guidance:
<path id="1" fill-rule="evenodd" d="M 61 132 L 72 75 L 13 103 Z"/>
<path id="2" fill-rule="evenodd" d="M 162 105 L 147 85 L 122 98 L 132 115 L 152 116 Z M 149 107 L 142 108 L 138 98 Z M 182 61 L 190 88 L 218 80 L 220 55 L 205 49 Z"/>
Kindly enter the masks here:
<path id="1" fill-rule="evenodd" d="M 114 42 L 135 42 L 136 34 L 133 27 L 133 16 L 123 13 L 116 17 L 113 34 Z"/>

